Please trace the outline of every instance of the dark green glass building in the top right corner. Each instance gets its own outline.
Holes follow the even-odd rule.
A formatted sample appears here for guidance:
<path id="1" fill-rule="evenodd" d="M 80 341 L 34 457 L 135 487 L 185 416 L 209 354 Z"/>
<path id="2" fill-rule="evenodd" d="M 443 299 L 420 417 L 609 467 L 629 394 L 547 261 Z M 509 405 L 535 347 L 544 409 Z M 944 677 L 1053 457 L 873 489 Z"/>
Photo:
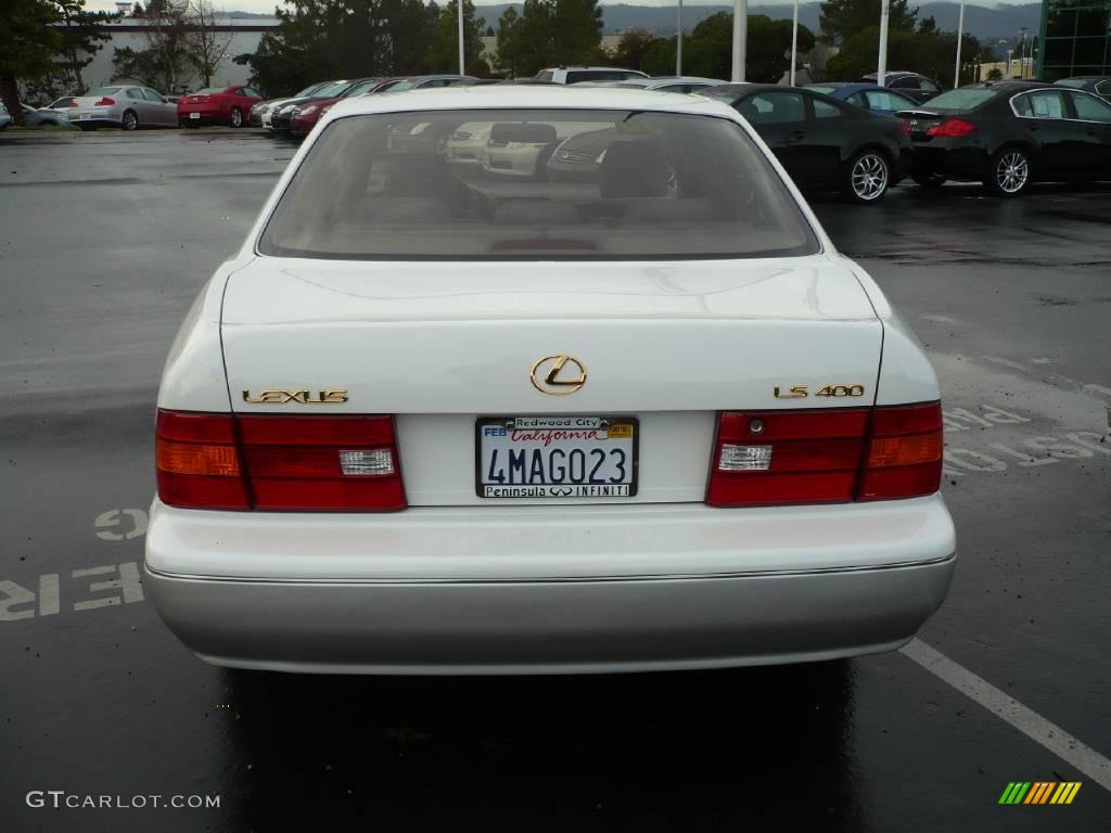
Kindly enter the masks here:
<path id="1" fill-rule="evenodd" d="M 1111 76 L 1111 0 L 1044 0 L 1038 77 Z"/>

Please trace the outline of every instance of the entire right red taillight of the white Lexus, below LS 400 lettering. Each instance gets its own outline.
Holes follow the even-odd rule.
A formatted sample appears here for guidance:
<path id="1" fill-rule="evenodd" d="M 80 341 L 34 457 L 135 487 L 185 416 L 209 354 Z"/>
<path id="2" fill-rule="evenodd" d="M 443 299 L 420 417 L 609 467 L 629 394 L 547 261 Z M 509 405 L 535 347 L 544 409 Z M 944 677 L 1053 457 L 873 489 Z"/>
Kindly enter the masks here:
<path id="1" fill-rule="evenodd" d="M 713 506 L 911 498 L 941 483 L 941 405 L 720 415 Z"/>

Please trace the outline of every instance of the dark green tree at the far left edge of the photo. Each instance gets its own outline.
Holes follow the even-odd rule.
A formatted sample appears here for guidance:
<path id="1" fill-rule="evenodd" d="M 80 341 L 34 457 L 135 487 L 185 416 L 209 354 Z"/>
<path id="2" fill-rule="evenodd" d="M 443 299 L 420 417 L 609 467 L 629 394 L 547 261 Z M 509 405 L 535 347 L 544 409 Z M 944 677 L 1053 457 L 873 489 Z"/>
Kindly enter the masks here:
<path id="1" fill-rule="evenodd" d="M 22 123 L 19 82 L 49 76 L 61 33 L 53 24 L 60 14 L 47 0 L 0 2 L 0 97 L 16 123 Z"/>

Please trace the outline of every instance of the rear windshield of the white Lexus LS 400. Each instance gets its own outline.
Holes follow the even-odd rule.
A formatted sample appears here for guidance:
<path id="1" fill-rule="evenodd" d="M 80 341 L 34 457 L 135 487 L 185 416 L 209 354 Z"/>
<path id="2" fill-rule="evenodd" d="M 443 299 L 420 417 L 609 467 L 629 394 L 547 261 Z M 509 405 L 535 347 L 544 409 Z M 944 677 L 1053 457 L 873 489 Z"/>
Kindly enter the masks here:
<path id="1" fill-rule="evenodd" d="M 262 254 L 350 260 L 818 250 L 794 199 L 737 123 L 635 110 L 340 119 L 310 148 L 259 240 Z"/>

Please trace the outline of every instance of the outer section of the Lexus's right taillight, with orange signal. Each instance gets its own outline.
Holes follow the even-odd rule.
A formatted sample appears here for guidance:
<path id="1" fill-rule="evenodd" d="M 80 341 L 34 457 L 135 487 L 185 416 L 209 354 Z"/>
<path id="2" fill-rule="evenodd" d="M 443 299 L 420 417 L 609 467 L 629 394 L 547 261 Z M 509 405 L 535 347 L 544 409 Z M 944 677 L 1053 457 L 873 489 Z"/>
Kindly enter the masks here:
<path id="1" fill-rule="evenodd" d="M 878 408 L 857 500 L 933 494 L 944 451 L 941 403 Z"/>

